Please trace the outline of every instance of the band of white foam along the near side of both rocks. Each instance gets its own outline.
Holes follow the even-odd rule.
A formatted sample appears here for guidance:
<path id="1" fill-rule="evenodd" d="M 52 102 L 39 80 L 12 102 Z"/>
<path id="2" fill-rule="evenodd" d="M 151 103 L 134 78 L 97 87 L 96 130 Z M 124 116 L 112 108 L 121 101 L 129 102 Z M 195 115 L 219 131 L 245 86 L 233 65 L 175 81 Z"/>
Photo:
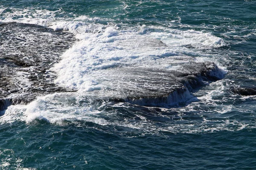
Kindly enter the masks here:
<path id="1" fill-rule="evenodd" d="M 58 93 L 38 97 L 38 99 L 31 102 L 29 105 L 10 106 L 6 110 L 6 114 L 1 117 L 0 122 L 2 125 L 5 123 L 13 123 L 15 121 L 24 121 L 30 124 L 35 120 L 41 119 L 58 125 L 66 125 L 64 122 L 72 122 L 78 126 L 80 124 L 79 122 L 93 122 L 102 126 L 127 127 L 129 129 L 139 130 L 139 132 L 143 134 L 158 134 L 162 132 L 213 133 L 222 130 L 242 130 L 250 126 L 246 122 L 233 120 L 228 116 L 216 117 L 216 113 L 225 114 L 230 111 L 231 108 L 225 110 L 225 106 L 222 107 L 220 112 L 215 111 L 216 113 L 212 113 L 212 115 L 210 113 L 204 113 L 203 111 L 189 111 L 190 107 L 197 107 L 197 103 L 192 103 L 188 107 L 183 108 L 170 108 L 171 113 L 168 115 L 154 113 L 153 117 L 159 117 L 159 119 L 161 119 L 160 117 L 163 117 L 168 120 L 166 122 L 151 120 L 151 116 L 147 116 L 140 112 L 134 112 L 134 116 L 137 117 L 136 119 L 134 119 L 134 116 L 125 116 L 125 119 L 120 119 L 119 114 L 121 112 L 108 112 L 104 111 L 105 109 L 102 109 L 105 105 L 109 105 L 108 102 L 95 102 L 95 97 L 97 96 L 91 96 L 91 100 L 87 97 L 87 102 L 81 103 L 81 101 L 86 100 L 84 97 L 85 96 L 78 96 L 76 93 Z M 211 107 L 213 106 L 211 104 L 209 105 Z M 120 109 L 127 108 L 125 104 L 122 103 L 113 104 L 112 107 Z M 130 107 L 131 106 L 128 106 L 128 108 Z M 144 108 L 152 111 L 154 110 L 153 107 Z M 161 110 L 169 112 L 169 109 Z M 172 111 L 179 113 L 173 114 Z M 192 113 L 192 120 L 187 119 L 189 113 L 186 112 Z M 198 113 L 194 114 L 193 112 Z M 249 113 L 250 111 L 248 110 L 247 112 Z M 158 123 L 162 123 L 163 125 L 156 125 Z"/>

